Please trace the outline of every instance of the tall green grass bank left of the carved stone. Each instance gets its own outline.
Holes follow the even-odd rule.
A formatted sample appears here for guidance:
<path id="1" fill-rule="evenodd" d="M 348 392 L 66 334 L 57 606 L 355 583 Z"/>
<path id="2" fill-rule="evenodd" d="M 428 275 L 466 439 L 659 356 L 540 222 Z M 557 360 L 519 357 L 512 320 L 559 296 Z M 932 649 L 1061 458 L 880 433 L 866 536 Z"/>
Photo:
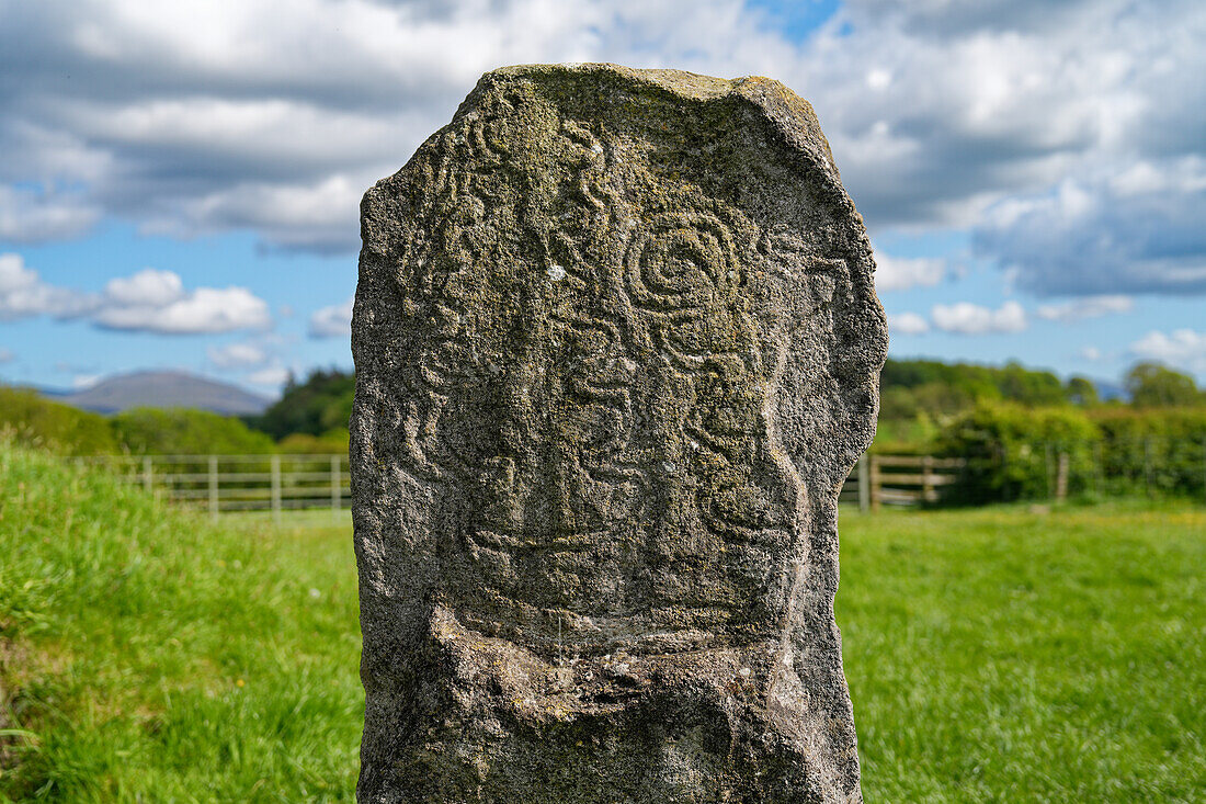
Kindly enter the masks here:
<path id="1" fill-rule="evenodd" d="M 210 525 L 0 444 L 0 800 L 351 800 L 349 529 Z"/>

